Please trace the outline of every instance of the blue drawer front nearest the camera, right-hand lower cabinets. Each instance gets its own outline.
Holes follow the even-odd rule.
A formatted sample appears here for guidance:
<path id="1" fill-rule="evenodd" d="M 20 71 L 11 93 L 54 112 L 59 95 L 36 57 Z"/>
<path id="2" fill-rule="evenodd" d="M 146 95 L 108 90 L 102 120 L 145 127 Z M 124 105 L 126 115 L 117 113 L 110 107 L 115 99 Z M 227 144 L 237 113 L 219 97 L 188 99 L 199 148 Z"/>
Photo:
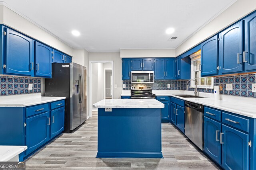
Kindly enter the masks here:
<path id="1" fill-rule="evenodd" d="M 222 112 L 222 122 L 249 133 L 249 119 Z"/>

